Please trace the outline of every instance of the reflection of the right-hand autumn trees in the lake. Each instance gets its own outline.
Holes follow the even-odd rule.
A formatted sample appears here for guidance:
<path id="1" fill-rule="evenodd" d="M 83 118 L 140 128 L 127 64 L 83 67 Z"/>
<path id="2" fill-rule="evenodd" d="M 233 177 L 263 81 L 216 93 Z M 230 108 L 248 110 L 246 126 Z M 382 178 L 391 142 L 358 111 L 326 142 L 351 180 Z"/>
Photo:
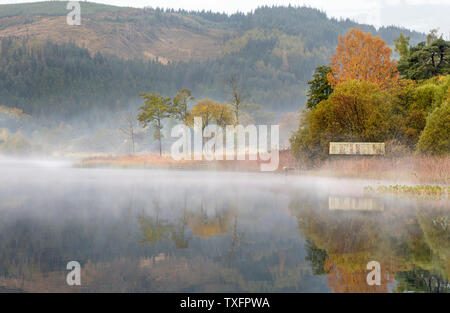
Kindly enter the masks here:
<path id="1" fill-rule="evenodd" d="M 396 292 L 449 290 L 450 213 L 440 203 L 390 202 L 369 212 L 328 210 L 326 201 L 296 196 L 290 210 L 307 239 L 306 260 L 334 292 L 388 292 L 394 279 Z M 372 260 L 381 264 L 381 286 L 366 282 Z"/>

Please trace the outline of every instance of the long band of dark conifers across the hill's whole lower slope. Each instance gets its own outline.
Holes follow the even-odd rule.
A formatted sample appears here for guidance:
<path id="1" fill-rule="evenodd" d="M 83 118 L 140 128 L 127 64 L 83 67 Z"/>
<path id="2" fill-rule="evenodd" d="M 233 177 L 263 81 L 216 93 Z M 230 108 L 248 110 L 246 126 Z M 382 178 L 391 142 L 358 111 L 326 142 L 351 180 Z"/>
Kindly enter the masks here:
<path id="1" fill-rule="evenodd" d="M 255 102 L 281 110 L 298 107 L 304 97 L 298 78 L 278 72 L 259 75 L 261 69 L 252 66 L 273 44 L 273 40 L 250 41 L 243 51 L 219 60 L 163 65 L 100 53 L 92 56 L 72 43 L 30 44 L 6 38 L 0 50 L 0 104 L 36 117 L 71 118 L 89 111 L 101 118 L 105 109 L 118 110 L 137 101 L 142 91 L 171 96 L 189 88 L 194 95 L 225 100 L 224 81 L 239 72 Z"/>

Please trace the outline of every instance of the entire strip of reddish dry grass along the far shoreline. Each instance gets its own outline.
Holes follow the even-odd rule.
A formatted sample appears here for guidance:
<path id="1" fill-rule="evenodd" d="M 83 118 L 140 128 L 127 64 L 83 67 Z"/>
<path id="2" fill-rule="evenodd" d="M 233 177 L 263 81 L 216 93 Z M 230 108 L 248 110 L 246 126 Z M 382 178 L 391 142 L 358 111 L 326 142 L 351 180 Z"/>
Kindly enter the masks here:
<path id="1" fill-rule="evenodd" d="M 121 157 L 94 157 L 84 159 L 81 167 L 149 167 L 161 169 L 209 169 L 259 171 L 261 161 L 175 161 L 170 156 L 145 154 Z M 283 167 L 298 168 L 290 151 L 280 151 L 278 170 Z M 318 169 L 301 171 L 300 174 L 339 178 L 364 178 L 397 182 L 426 184 L 450 183 L 450 156 L 403 158 L 334 158 L 325 161 Z"/>

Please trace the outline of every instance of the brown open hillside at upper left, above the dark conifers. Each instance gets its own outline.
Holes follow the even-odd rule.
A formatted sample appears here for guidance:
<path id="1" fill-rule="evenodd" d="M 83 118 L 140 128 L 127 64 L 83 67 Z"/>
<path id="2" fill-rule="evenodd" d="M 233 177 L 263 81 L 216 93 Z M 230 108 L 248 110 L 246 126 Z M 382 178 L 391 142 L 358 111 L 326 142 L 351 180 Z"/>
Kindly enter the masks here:
<path id="1" fill-rule="evenodd" d="M 180 61 L 206 59 L 220 54 L 228 31 L 201 31 L 189 17 L 167 14 L 158 20 L 155 11 L 118 8 L 81 2 L 80 26 L 66 23 L 66 2 L 0 5 L 0 37 L 74 42 L 91 53 L 102 52 L 122 58 Z M 30 6 L 30 7 L 28 7 Z"/>

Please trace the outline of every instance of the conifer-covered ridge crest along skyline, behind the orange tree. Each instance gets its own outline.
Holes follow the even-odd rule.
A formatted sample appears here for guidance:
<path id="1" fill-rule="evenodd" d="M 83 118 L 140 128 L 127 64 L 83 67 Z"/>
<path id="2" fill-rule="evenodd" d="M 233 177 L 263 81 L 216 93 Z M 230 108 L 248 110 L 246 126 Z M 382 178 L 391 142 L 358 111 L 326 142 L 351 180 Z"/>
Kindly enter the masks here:
<path id="1" fill-rule="evenodd" d="M 389 45 L 400 32 L 410 36 L 412 43 L 424 39 L 424 35 L 397 26 L 383 26 L 378 30 L 367 24 L 359 24 L 350 19 L 328 18 L 326 13 L 318 9 L 298 6 L 261 6 L 250 13 L 237 12 L 231 15 L 212 11 L 187 11 L 174 9 L 146 8 L 147 15 L 155 15 L 159 21 L 174 22 L 173 14 L 198 17 L 209 22 L 217 23 L 226 28 L 248 31 L 253 28 L 266 30 L 277 29 L 288 35 L 304 34 L 307 47 L 313 48 L 326 44 L 336 44 L 339 35 L 346 33 L 352 27 L 359 27 L 374 36 L 381 36 Z M 182 19 L 178 19 L 182 21 Z M 201 20 L 198 20 L 201 24 Z M 216 25 L 217 26 L 217 25 Z"/>

